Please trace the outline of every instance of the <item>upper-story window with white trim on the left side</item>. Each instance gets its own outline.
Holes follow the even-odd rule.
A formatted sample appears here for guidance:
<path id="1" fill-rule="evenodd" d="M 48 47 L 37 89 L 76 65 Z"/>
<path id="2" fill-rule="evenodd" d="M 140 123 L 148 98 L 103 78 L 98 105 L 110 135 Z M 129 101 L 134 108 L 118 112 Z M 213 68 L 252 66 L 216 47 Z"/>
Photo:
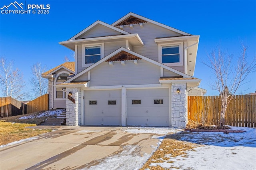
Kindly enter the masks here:
<path id="1" fill-rule="evenodd" d="M 104 43 L 82 46 L 82 67 L 90 67 L 104 57 Z"/>

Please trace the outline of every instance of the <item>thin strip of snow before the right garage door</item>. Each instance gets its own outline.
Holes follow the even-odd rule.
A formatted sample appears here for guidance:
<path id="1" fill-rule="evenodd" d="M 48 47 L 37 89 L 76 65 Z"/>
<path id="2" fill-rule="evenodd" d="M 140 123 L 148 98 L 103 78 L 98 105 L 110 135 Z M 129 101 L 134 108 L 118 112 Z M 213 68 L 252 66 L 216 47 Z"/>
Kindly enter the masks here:
<path id="1" fill-rule="evenodd" d="M 184 129 L 164 128 L 164 127 L 128 127 L 123 129 L 128 133 L 153 133 L 153 134 L 168 134 L 170 132 L 177 133 Z"/>

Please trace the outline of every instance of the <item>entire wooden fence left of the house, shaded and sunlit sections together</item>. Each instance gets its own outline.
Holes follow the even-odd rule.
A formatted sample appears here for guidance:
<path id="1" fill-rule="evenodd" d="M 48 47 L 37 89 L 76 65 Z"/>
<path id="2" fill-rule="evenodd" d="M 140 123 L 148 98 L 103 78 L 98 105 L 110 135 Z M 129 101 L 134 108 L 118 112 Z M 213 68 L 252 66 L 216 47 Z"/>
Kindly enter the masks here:
<path id="1" fill-rule="evenodd" d="M 48 101 L 48 94 L 42 95 L 26 104 L 12 97 L 0 97 L 0 117 L 10 117 L 49 110 Z"/>

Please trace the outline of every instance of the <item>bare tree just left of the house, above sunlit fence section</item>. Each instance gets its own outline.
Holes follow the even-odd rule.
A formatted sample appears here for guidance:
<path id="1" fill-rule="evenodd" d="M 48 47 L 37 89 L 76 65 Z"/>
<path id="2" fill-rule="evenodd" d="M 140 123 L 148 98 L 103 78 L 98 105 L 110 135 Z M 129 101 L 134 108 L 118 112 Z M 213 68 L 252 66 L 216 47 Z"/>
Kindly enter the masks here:
<path id="1" fill-rule="evenodd" d="M 41 63 L 34 63 L 31 66 L 32 77 L 30 83 L 32 84 L 33 97 L 39 97 L 47 93 L 48 81 L 42 77 L 42 73 L 46 71 L 47 67 L 42 66 Z"/>

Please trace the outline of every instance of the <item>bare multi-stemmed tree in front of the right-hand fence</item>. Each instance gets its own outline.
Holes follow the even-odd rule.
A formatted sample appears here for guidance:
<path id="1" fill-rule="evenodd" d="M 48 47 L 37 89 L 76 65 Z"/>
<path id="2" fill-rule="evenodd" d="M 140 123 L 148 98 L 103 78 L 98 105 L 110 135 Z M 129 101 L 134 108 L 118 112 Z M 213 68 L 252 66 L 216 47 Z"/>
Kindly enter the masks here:
<path id="1" fill-rule="evenodd" d="M 248 46 L 242 44 L 241 52 L 235 59 L 233 55 L 229 55 L 226 51 L 217 47 L 208 55 L 208 60 L 203 61 L 214 74 L 215 81 L 210 86 L 220 94 L 220 128 L 225 125 L 226 109 L 237 89 L 246 83 L 246 77 L 250 73 L 256 71 L 256 58 L 254 57 L 252 62 L 248 62 L 247 50 Z"/>

